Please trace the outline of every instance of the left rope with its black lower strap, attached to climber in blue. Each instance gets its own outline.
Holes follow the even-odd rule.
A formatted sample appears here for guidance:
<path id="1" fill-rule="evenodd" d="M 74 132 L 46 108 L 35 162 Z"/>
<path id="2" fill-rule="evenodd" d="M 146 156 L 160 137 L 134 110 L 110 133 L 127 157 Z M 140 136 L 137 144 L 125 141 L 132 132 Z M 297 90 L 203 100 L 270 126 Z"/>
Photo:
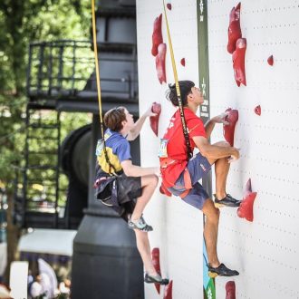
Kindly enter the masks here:
<path id="1" fill-rule="evenodd" d="M 99 67 L 99 60 L 98 60 L 98 44 L 97 44 L 97 34 L 96 34 L 96 24 L 95 24 L 95 5 L 94 5 L 94 1 L 95 0 L 92 0 L 92 38 L 93 38 L 93 53 L 94 53 L 94 63 L 95 63 L 95 76 L 96 76 L 98 101 L 99 101 L 101 137 L 102 137 L 102 141 L 103 141 L 103 151 L 104 151 L 105 159 L 106 159 L 106 162 L 109 165 L 109 172 L 111 172 L 111 169 L 113 169 L 114 174 L 116 175 L 116 169 L 111 164 L 111 161 L 108 158 L 108 153 L 107 153 L 107 149 L 106 149 L 106 141 L 105 141 L 105 138 L 104 138 L 104 126 L 103 126 L 102 111 L 101 111 L 100 67 Z"/>

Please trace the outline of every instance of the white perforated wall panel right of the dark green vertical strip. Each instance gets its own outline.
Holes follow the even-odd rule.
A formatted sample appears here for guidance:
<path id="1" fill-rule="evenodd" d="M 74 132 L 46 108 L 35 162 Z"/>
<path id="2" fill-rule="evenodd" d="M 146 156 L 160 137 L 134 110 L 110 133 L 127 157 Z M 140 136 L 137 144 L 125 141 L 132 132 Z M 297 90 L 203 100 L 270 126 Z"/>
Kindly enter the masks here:
<path id="1" fill-rule="evenodd" d="M 227 190 L 242 198 L 248 178 L 257 192 L 254 220 L 222 209 L 218 239 L 221 260 L 238 269 L 236 298 L 298 298 L 299 3 L 242 1 L 246 38 L 246 86 L 236 86 L 227 53 L 229 12 L 237 2 L 208 2 L 211 115 L 238 110 L 235 146 L 241 158 L 231 166 Z M 273 55 L 274 63 L 267 63 Z M 260 115 L 255 113 L 257 105 Z M 217 127 L 212 141 L 223 138 Z M 217 278 L 225 298 L 227 279 Z"/>

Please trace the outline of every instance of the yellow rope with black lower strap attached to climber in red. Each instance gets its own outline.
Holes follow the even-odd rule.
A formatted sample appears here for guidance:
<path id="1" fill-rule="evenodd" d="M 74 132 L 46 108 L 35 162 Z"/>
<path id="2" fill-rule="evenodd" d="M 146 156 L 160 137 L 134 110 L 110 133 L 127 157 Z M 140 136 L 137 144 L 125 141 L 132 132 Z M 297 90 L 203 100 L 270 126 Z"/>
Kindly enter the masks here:
<path id="1" fill-rule="evenodd" d="M 180 96 L 180 90 L 179 90 L 179 84 L 178 84 L 178 72 L 177 72 L 177 67 L 176 67 L 176 61 L 174 58 L 174 53 L 173 53 L 173 48 L 172 48 L 172 43 L 171 43 L 171 36 L 169 33 L 169 21 L 167 18 L 167 13 L 166 13 L 166 6 L 165 6 L 165 0 L 163 0 L 163 6 L 164 6 L 164 15 L 165 15 L 165 21 L 166 21 L 166 29 L 167 29 L 167 37 L 169 40 L 169 51 L 170 51 L 170 57 L 171 57 L 171 64 L 172 64 L 172 71 L 173 71 L 173 76 L 175 79 L 176 83 L 176 90 L 177 90 L 177 96 L 178 96 L 178 109 L 180 113 L 180 120 L 182 121 L 182 126 L 183 126 L 183 133 L 184 133 L 184 138 L 187 146 L 187 152 L 188 152 L 188 159 L 192 158 L 192 151 L 190 147 L 190 139 L 188 135 L 188 129 L 187 129 L 187 124 L 185 120 L 185 113 L 183 109 L 183 104 Z"/>

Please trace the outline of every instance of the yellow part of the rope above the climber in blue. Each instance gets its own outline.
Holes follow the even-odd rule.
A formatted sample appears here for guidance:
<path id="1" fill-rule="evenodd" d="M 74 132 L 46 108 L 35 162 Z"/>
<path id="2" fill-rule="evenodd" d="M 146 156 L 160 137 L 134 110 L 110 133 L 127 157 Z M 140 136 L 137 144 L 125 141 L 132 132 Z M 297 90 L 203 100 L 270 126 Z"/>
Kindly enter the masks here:
<path id="1" fill-rule="evenodd" d="M 93 37 L 93 53 L 94 53 L 94 63 L 95 63 L 95 76 L 97 82 L 98 91 L 98 101 L 99 101 L 99 114 L 101 123 L 101 136 L 104 137 L 104 129 L 102 126 L 102 113 L 101 113 L 101 85 L 100 85 L 100 68 L 98 60 L 98 45 L 97 45 L 97 34 L 96 34 L 96 24 L 95 24 L 95 8 L 94 0 L 92 0 L 92 37 Z"/>

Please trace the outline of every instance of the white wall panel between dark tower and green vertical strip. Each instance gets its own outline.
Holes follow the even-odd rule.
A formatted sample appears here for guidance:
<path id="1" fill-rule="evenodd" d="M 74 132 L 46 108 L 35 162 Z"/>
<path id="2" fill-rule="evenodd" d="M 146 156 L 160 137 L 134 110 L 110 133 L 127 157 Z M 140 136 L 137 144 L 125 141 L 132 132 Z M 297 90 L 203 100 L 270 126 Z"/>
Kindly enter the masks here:
<path id="1" fill-rule="evenodd" d="M 140 112 L 149 104 L 161 104 L 158 137 L 149 125 L 144 126 L 140 138 L 141 165 L 159 165 L 159 138 L 169 125 L 175 109 L 166 100 L 168 84 L 160 84 L 155 57 L 151 54 L 153 25 L 159 14 L 163 13 L 162 1 L 137 1 L 138 24 L 138 63 Z M 198 32 L 196 1 L 171 1 L 171 11 L 167 10 L 169 29 L 172 36 L 177 61 L 178 77 L 193 80 L 198 84 Z M 167 43 L 166 78 L 174 83 L 165 17 L 162 16 L 163 43 Z M 180 63 L 185 58 L 185 66 Z M 202 214 L 188 207 L 179 198 L 167 198 L 156 190 L 146 208 L 145 217 L 154 227 L 149 233 L 151 247 L 159 247 L 162 275 L 173 281 L 172 298 L 201 298 L 202 289 Z M 164 286 L 158 294 L 154 285 L 145 285 L 145 297 L 163 298 Z"/>

